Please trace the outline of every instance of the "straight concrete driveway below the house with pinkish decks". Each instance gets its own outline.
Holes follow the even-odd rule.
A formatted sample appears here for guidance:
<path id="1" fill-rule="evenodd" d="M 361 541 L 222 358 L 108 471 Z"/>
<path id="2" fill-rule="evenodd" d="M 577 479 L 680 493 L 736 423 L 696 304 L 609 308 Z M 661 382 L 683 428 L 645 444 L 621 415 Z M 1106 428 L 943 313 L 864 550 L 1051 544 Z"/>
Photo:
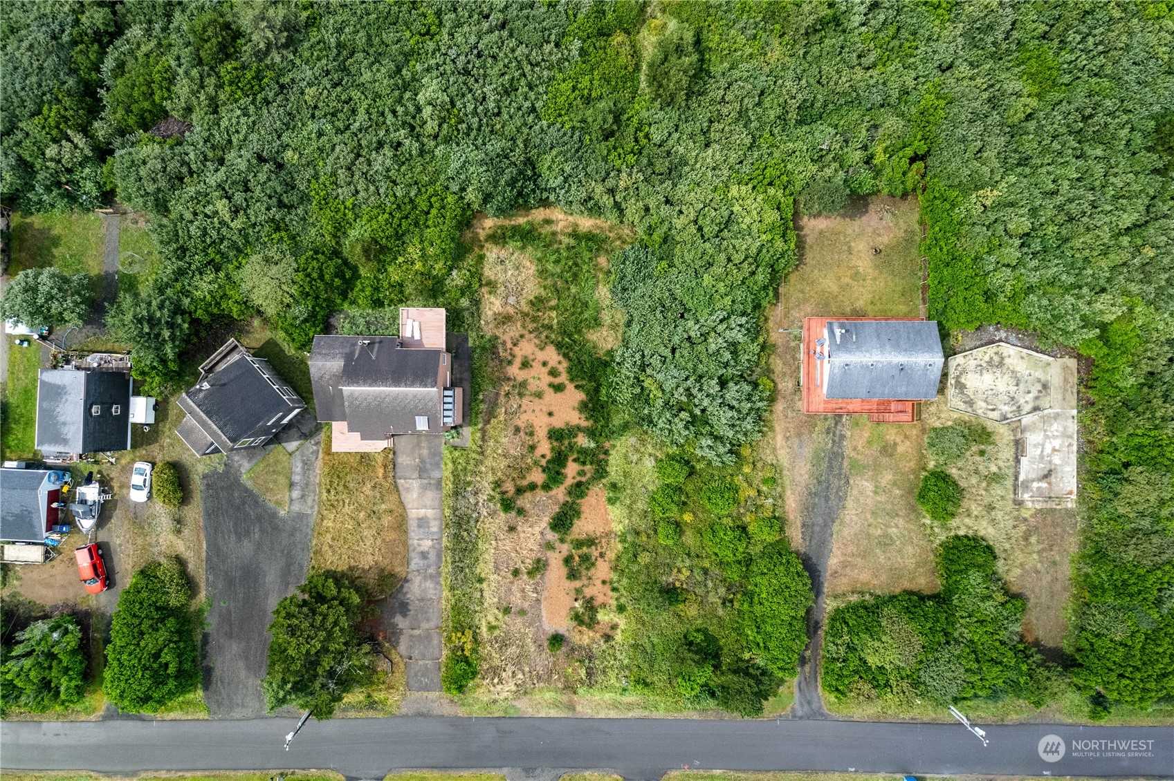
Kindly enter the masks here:
<path id="1" fill-rule="evenodd" d="M 440 691 L 440 562 L 444 437 L 393 440 L 396 487 L 407 510 L 407 577 L 380 605 L 387 639 L 404 657 L 409 692 Z"/>

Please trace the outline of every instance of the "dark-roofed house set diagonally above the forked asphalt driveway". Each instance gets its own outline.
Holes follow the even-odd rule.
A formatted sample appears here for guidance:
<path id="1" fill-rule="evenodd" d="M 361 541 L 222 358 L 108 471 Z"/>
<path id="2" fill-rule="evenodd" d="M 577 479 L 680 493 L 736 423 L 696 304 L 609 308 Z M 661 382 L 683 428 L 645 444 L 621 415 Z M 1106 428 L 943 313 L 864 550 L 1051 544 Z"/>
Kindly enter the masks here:
<path id="1" fill-rule="evenodd" d="M 259 447 L 306 406 L 236 339 L 200 366 L 200 381 L 178 403 L 188 416 L 175 433 L 197 456 Z"/>

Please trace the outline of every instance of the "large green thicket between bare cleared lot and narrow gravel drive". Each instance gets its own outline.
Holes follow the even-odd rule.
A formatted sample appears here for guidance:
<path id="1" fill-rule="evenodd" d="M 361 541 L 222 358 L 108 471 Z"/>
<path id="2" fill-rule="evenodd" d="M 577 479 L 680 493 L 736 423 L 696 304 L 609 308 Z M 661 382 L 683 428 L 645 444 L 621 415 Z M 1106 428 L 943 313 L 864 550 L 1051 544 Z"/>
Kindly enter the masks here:
<path id="1" fill-rule="evenodd" d="M 612 572 L 634 687 L 756 715 L 795 674 L 814 597 L 768 497 L 738 474 L 681 450 L 659 459 Z"/>

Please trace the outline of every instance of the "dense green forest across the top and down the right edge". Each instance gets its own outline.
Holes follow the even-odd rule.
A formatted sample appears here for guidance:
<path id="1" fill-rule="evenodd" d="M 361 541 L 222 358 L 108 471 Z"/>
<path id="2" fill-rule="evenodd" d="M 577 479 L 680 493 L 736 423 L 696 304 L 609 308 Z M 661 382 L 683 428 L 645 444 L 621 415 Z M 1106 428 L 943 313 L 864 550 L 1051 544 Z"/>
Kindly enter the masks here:
<path id="1" fill-rule="evenodd" d="M 1101 713 L 1174 697 L 1172 43 L 1147 0 L 5 2 L 0 195 L 150 215 L 109 325 L 154 388 L 252 313 L 460 328 L 474 211 L 626 223 L 601 398 L 715 468 L 762 432 L 796 212 L 915 195 L 932 318 L 1093 361 L 1065 650 Z"/>

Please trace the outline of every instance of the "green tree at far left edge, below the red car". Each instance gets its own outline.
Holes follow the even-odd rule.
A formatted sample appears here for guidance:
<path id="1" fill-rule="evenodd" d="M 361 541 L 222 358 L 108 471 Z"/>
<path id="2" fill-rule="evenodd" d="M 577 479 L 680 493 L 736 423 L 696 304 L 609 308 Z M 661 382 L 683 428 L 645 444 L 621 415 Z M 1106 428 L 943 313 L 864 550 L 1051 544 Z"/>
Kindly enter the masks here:
<path id="1" fill-rule="evenodd" d="M 81 701 L 86 654 L 73 616 L 35 622 L 16 633 L 0 666 L 0 711 L 19 706 L 41 713 Z"/>

